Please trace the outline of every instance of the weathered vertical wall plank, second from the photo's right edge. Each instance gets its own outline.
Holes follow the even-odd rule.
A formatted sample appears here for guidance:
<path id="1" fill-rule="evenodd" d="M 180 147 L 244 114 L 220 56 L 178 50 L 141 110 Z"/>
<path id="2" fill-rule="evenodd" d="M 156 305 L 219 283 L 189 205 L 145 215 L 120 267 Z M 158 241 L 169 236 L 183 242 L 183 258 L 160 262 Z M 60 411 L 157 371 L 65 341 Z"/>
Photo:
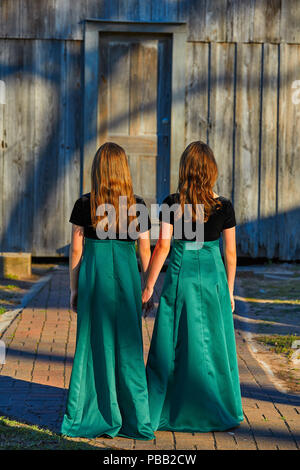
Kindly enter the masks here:
<path id="1" fill-rule="evenodd" d="M 276 253 L 278 45 L 263 46 L 261 151 L 259 191 L 259 254 Z"/>

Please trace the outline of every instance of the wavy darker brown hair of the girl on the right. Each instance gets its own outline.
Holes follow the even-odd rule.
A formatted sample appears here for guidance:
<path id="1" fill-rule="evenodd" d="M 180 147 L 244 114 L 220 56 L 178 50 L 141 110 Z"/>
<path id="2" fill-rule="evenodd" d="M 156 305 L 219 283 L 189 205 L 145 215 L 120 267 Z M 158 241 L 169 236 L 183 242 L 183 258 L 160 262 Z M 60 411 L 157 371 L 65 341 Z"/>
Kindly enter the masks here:
<path id="1" fill-rule="evenodd" d="M 190 143 L 180 159 L 178 192 L 180 205 L 192 205 L 192 219 L 196 220 L 196 204 L 204 205 L 204 222 L 214 209 L 222 204 L 214 198 L 213 186 L 218 178 L 218 167 L 211 148 L 204 142 Z"/>

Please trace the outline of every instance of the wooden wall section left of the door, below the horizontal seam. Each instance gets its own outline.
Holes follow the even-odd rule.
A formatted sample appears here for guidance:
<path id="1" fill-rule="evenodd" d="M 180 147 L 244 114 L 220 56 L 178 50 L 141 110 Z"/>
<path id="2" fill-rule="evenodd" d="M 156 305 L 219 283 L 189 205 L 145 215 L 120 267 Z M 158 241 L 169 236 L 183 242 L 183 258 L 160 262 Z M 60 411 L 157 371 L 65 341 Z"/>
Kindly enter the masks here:
<path id="1" fill-rule="evenodd" d="M 0 237 L 3 251 L 58 255 L 79 194 L 81 48 L 0 40 Z"/>

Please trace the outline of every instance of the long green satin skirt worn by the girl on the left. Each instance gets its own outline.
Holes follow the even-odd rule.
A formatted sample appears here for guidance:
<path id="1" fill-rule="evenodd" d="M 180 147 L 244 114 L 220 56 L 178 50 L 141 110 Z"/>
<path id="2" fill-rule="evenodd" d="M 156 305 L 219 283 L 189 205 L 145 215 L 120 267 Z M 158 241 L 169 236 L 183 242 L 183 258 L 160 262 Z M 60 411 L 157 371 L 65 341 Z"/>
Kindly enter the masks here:
<path id="1" fill-rule="evenodd" d="M 134 242 L 85 239 L 77 312 L 62 434 L 154 439 Z"/>

